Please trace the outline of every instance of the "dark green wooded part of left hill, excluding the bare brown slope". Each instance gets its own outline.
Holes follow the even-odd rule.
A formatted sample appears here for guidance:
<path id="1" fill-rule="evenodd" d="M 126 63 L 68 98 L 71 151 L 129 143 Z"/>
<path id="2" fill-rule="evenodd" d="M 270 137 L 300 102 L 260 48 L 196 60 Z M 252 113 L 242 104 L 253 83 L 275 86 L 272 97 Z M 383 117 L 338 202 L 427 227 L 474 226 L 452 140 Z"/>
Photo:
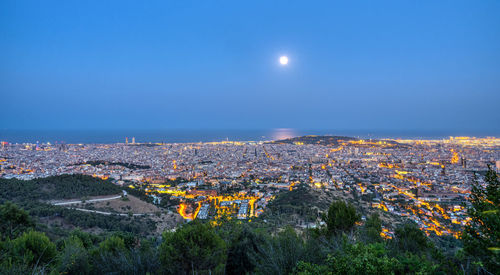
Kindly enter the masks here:
<path id="1" fill-rule="evenodd" d="M 33 180 L 0 179 L 0 204 L 11 201 L 36 217 L 40 230 L 64 235 L 81 228 L 91 232 L 126 231 L 148 235 L 156 223 L 148 216 L 101 215 L 55 206 L 51 200 L 81 199 L 121 194 L 122 188 L 109 180 L 86 175 L 61 175 Z"/>

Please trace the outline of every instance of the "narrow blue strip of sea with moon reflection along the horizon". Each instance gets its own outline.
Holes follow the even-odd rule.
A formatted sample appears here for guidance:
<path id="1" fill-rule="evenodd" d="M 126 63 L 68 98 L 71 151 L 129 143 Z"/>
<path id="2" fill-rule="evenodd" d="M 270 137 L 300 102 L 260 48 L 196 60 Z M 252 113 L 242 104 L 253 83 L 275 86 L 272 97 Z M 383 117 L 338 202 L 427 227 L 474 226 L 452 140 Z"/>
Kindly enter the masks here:
<path id="1" fill-rule="evenodd" d="M 277 128 L 264 130 L 5 130 L 0 141 L 8 143 L 92 144 L 192 143 L 219 141 L 269 141 L 304 135 L 349 136 L 363 139 L 447 139 L 450 136 L 499 137 L 499 132 L 440 130 L 300 130 Z"/>

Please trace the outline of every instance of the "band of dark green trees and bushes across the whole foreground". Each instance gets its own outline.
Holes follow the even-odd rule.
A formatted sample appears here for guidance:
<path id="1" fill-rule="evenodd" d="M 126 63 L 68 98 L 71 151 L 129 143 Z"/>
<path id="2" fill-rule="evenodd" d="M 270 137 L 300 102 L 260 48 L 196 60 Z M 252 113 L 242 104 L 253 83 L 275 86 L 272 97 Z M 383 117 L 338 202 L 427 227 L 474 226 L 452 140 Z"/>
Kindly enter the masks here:
<path id="1" fill-rule="evenodd" d="M 413 223 L 383 239 L 377 214 L 334 201 L 324 226 L 270 231 L 262 221 L 191 222 L 162 236 L 80 230 L 49 238 L 19 206 L 0 206 L 0 274 L 498 274 L 500 183 L 474 186 L 461 240 L 429 238 Z"/>

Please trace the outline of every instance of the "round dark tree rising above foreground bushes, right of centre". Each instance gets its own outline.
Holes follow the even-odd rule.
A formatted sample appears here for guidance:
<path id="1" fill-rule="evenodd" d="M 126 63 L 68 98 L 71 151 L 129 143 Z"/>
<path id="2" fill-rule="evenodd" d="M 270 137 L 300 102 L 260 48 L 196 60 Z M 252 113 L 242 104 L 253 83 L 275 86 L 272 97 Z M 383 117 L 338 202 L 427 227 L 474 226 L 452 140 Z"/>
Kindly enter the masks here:
<path id="1" fill-rule="evenodd" d="M 349 231 L 360 219 L 361 216 L 356 212 L 356 208 L 343 201 L 332 202 L 328 214 L 323 216 L 327 235 Z"/>

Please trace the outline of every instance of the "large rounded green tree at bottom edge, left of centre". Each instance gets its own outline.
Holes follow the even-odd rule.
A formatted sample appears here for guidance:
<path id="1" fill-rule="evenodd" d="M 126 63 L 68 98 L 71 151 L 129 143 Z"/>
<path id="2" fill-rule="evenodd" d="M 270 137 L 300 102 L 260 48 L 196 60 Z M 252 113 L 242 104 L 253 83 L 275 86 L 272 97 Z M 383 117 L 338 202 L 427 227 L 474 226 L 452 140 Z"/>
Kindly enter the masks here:
<path id="1" fill-rule="evenodd" d="M 220 274 L 224 272 L 226 244 L 210 224 L 195 221 L 163 233 L 160 261 L 167 274 Z"/>

